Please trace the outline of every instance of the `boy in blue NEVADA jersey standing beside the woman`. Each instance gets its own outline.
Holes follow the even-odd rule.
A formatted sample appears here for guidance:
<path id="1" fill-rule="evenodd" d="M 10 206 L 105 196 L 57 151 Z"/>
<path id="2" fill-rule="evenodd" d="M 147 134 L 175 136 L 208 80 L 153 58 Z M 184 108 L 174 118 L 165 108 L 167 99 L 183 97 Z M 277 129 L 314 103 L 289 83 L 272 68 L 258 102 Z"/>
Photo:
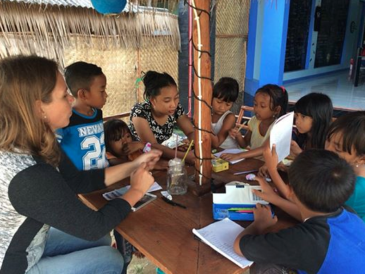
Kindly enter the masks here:
<path id="1" fill-rule="evenodd" d="M 105 168 L 106 76 L 94 64 L 76 62 L 65 69 L 65 79 L 75 104 L 70 124 L 57 132 L 61 147 L 79 170 Z"/>

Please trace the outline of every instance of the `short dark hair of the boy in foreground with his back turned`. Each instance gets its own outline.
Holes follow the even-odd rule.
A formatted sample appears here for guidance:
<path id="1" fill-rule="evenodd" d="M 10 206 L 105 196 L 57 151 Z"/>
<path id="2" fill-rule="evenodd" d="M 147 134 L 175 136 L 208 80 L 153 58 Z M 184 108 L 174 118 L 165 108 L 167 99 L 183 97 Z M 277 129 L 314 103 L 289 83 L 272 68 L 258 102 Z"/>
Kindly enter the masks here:
<path id="1" fill-rule="evenodd" d="M 356 176 L 345 159 L 332 151 L 307 149 L 289 168 L 293 192 L 312 211 L 330 213 L 345 204 L 354 191 Z"/>

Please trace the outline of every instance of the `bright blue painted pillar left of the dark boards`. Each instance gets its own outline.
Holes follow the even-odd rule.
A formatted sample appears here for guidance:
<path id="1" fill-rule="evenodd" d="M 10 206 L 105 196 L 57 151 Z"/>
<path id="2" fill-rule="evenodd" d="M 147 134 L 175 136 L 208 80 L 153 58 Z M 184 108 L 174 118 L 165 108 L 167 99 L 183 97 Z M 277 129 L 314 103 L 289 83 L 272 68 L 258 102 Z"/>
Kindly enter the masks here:
<path id="1" fill-rule="evenodd" d="M 290 1 L 251 0 L 245 92 L 282 84 Z"/>

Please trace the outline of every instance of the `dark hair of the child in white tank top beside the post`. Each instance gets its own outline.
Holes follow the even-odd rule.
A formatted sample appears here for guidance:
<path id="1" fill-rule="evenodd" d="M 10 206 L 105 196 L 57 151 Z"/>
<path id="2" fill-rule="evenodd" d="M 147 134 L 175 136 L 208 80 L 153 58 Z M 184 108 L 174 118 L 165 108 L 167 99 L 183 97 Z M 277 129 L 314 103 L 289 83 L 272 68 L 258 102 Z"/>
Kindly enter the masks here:
<path id="1" fill-rule="evenodd" d="M 213 87 L 213 98 L 218 98 L 228 103 L 235 102 L 240 92 L 238 82 L 231 77 L 221 77 Z"/>

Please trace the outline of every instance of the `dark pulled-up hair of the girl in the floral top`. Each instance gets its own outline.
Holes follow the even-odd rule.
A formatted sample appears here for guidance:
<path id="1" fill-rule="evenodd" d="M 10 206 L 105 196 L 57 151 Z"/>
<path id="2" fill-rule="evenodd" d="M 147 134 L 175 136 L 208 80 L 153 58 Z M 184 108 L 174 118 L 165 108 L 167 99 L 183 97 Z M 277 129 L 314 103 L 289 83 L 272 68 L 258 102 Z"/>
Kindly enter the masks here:
<path id="1" fill-rule="evenodd" d="M 149 70 L 143 77 L 145 100 L 149 100 L 152 96 L 157 96 L 161 92 L 161 88 L 175 86 L 176 82 L 168 73 L 158 73 L 154 70 Z"/>

